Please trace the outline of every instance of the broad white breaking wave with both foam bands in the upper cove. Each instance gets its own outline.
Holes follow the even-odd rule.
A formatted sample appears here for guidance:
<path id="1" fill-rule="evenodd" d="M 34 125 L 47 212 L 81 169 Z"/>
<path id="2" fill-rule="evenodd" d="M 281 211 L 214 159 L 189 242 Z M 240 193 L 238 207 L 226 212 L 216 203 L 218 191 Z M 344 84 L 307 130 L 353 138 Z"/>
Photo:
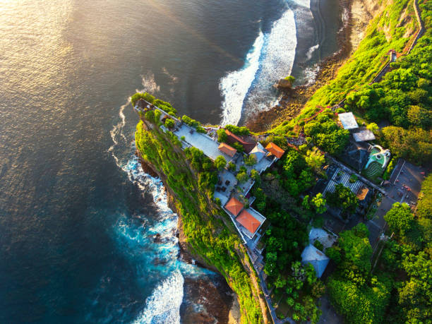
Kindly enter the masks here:
<path id="1" fill-rule="evenodd" d="M 277 102 L 272 85 L 291 73 L 296 44 L 294 12 L 287 6 L 281 18 L 272 24 L 270 32 L 260 32 L 244 66 L 220 80 L 224 97 L 221 124 L 238 124 L 242 112 L 251 114 Z"/>

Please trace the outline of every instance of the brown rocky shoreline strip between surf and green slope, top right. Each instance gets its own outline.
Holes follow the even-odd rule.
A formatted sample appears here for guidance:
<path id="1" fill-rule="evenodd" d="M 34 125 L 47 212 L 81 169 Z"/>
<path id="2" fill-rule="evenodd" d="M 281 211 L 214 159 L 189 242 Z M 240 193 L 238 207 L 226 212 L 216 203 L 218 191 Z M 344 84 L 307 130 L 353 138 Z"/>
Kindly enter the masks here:
<path id="1" fill-rule="evenodd" d="M 297 116 L 313 92 L 335 78 L 338 69 L 358 47 L 368 21 L 380 10 L 374 0 L 340 0 L 339 4 L 342 12 L 342 27 L 337 33 L 339 50 L 317 64 L 318 72 L 313 83 L 280 90 L 281 99 L 274 107 L 251 116 L 246 121 L 246 126 L 252 131 L 267 131 L 272 126 Z M 367 20 L 360 17 L 367 17 Z"/>

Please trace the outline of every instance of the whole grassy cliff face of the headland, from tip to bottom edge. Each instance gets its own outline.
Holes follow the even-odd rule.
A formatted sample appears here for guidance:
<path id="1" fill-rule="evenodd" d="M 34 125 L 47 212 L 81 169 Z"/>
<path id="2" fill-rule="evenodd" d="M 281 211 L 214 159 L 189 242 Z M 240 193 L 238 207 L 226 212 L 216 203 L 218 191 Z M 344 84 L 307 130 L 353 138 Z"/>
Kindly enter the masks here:
<path id="1" fill-rule="evenodd" d="M 149 117 L 149 116 L 148 116 Z M 144 118 L 136 128 L 138 155 L 162 179 L 169 206 L 179 215 L 182 251 L 221 275 L 238 296 L 241 323 L 269 323 L 258 277 L 232 222 L 212 200 L 209 172 L 191 167 L 179 140 Z"/>

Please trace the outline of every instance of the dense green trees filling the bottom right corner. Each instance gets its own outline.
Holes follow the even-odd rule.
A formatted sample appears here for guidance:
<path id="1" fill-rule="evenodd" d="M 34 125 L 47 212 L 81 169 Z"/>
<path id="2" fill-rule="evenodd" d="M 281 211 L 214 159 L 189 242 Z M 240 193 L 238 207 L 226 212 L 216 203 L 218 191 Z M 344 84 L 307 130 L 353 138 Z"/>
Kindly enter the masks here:
<path id="1" fill-rule="evenodd" d="M 430 323 L 432 316 L 432 175 L 421 189 L 416 215 L 395 203 L 385 215 L 393 239 L 371 272 L 364 224 L 340 234 L 327 255 L 337 263 L 328 292 L 349 323 Z M 376 273 L 377 275 L 374 275 Z"/>

